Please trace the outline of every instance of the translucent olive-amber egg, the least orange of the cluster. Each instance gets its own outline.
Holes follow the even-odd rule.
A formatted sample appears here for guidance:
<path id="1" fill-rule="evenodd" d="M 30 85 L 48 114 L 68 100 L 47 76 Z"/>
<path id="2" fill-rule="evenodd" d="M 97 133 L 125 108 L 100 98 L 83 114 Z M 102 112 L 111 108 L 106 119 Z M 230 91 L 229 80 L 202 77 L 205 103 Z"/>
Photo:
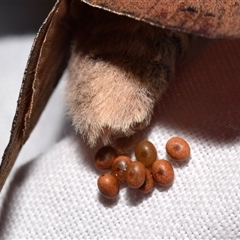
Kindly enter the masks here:
<path id="1" fill-rule="evenodd" d="M 157 150 L 151 142 L 143 140 L 137 144 L 135 156 L 137 161 L 143 163 L 145 167 L 151 167 L 157 160 Z"/>

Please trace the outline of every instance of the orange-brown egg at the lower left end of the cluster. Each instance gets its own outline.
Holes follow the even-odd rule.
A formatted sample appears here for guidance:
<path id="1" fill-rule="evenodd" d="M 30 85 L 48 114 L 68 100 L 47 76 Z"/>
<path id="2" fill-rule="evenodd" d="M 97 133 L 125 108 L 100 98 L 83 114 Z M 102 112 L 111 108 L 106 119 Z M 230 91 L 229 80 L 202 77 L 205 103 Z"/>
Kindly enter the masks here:
<path id="1" fill-rule="evenodd" d="M 112 174 L 105 173 L 98 178 L 98 189 L 101 194 L 109 199 L 117 197 L 120 184 L 118 179 Z"/>

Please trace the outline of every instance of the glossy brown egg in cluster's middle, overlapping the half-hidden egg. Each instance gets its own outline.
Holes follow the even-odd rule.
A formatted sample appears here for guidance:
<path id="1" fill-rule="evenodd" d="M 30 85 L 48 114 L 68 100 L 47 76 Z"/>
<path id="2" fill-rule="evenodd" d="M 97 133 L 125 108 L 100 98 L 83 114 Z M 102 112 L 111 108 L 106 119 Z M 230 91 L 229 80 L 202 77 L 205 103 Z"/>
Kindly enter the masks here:
<path id="1" fill-rule="evenodd" d="M 139 188 L 146 179 L 145 166 L 138 161 L 131 162 L 126 171 L 126 183 L 130 188 Z"/>

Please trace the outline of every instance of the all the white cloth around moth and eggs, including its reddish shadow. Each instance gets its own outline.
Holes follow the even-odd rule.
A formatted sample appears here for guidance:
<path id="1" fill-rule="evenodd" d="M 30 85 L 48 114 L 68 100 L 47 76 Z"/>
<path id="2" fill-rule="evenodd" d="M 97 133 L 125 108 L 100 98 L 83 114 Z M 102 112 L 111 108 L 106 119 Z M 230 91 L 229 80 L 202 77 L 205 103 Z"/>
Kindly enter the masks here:
<path id="1" fill-rule="evenodd" d="M 18 91 L 31 41 L 1 39 L 1 151 L 16 101 L 6 93 Z M 174 164 L 172 187 L 156 186 L 149 195 L 122 187 L 115 201 L 96 186 L 100 146 L 90 149 L 68 130 L 63 79 L 1 194 L 0 239 L 240 239 L 239 56 L 239 40 L 219 40 L 178 69 L 135 141 L 149 139 L 158 157 L 168 158 L 166 141 L 182 136 L 191 159 Z"/>

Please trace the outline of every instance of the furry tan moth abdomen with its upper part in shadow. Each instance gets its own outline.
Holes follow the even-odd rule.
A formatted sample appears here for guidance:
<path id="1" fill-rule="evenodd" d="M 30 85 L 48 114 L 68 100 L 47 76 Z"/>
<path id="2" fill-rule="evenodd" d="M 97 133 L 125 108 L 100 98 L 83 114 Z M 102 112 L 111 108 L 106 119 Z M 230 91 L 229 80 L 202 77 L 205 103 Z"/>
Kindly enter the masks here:
<path id="1" fill-rule="evenodd" d="M 86 7 L 69 62 L 73 124 L 91 146 L 146 127 L 185 53 L 188 36 Z M 91 16 L 91 18 L 89 18 Z"/>

